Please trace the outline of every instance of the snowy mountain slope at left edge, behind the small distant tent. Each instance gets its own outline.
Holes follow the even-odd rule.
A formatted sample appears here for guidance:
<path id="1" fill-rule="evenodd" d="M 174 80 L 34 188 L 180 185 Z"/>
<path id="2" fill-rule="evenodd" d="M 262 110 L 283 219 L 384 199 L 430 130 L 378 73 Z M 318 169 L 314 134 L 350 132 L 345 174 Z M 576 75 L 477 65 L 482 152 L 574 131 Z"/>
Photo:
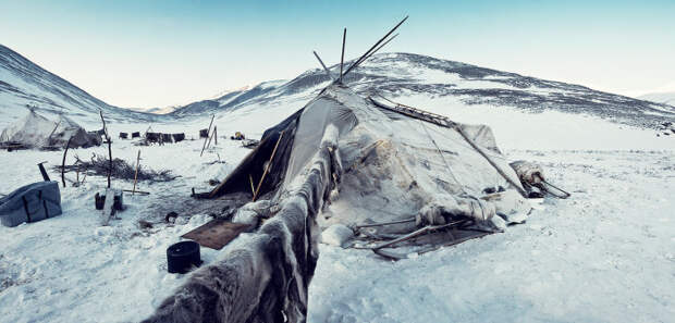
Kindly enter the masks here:
<path id="1" fill-rule="evenodd" d="M 98 119 L 99 109 L 111 120 L 156 119 L 110 105 L 0 45 L 0 114 L 14 119 L 24 115 L 28 105 L 40 113 L 64 113 L 75 119 Z"/>

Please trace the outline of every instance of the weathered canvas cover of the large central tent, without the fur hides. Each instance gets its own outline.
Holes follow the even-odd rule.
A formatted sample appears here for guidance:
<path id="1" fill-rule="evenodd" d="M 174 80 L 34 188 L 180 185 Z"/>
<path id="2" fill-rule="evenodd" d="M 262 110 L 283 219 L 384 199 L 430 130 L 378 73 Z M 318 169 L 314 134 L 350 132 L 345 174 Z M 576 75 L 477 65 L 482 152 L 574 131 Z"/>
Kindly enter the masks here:
<path id="1" fill-rule="evenodd" d="M 253 195 L 251 186 L 262 177 L 278 145 L 259 194 L 278 201 L 298 189 L 294 182 L 303 183 L 303 172 L 322 138 L 334 132 L 345 173 L 334 195 L 339 198 L 324 209 L 324 225 L 394 221 L 420 212 L 453 213 L 479 221 L 500 214 L 506 222 L 510 216 L 521 221 L 529 203 L 518 194 L 523 189 L 518 176 L 496 147 L 490 127 L 456 127 L 468 138 L 458 128 L 381 109 L 349 88 L 333 85 L 268 129 L 260 147 L 209 197 Z M 494 191 L 499 194 L 490 194 Z"/>

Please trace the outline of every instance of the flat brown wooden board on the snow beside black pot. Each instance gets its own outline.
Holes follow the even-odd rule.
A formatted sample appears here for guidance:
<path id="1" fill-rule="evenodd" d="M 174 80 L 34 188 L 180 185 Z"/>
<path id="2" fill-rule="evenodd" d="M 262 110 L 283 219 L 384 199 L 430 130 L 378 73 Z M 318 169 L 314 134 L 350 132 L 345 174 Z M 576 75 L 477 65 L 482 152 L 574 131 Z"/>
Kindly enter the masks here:
<path id="1" fill-rule="evenodd" d="M 249 224 L 213 219 L 181 237 L 194 240 L 202 247 L 220 250 L 249 227 Z"/>

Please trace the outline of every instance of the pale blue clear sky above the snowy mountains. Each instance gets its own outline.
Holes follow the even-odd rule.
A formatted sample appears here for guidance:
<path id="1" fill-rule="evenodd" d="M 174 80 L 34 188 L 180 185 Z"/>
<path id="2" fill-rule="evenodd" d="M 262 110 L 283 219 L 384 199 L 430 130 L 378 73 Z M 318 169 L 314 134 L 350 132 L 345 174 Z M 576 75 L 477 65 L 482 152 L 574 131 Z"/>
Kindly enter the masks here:
<path id="1" fill-rule="evenodd" d="M 120 107 L 164 107 L 405 51 L 640 95 L 675 90 L 675 1 L 4 1 L 0 44 Z"/>

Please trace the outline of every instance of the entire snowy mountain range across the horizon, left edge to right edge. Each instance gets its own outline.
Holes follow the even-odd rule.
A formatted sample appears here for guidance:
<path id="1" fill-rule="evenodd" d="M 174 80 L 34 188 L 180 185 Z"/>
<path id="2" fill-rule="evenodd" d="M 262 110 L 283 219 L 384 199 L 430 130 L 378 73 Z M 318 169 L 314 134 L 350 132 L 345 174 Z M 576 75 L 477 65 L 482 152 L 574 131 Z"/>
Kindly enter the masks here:
<path id="1" fill-rule="evenodd" d="M 346 62 L 351 65 L 353 61 Z M 338 75 L 340 66 L 330 67 Z M 235 109 L 265 109 L 270 104 L 297 107 L 315 97 L 330 78 L 322 70 L 306 71 L 291 80 L 263 82 L 228 90 L 184 107 L 134 111 L 110 105 L 68 80 L 49 73 L 0 45 L 0 120 L 25 114 L 26 105 L 46 113 L 66 113 L 96 121 L 99 109 L 108 119 L 126 122 L 199 117 Z M 529 112 L 557 110 L 600 116 L 616 123 L 658 128 L 675 121 L 675 107 L 597 91 L 585 86 L 480 67 L 413 53 L 381 53 L 354 70 L 344 83 L 358 94 L 390 97 L 424 95 L 455 97 L 466 105 L 512 107 Z M 421 108 L 421 107 L 420 107 Z M 167 113 L 167 114 L 152 114 Z"/>

